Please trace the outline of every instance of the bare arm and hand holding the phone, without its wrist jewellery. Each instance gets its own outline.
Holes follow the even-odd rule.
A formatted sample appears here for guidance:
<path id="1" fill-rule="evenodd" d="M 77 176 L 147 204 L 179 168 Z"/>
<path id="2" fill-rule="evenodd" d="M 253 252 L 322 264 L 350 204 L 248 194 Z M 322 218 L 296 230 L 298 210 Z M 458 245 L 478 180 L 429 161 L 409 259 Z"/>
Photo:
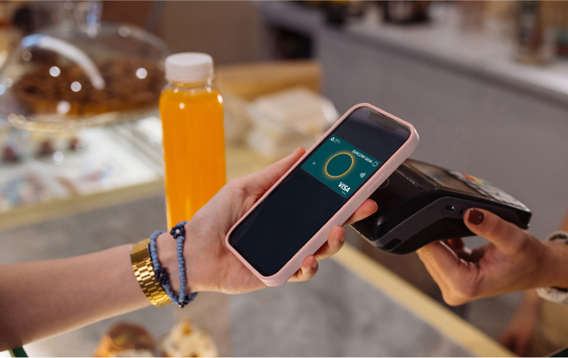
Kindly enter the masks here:
<path id="1" fill-rule="evenodd" d="M 304 152 L 299 149 L 259 172 L 229 181 L 187 223 L 184 258 L 188 293 L 237 294 L 266 287 L 229 252 L 224 237 Z M 377 204 L 367 200 L 347 223 L 376 210 Z M 317 260 L 339 251 L 344 235 L 341 226 L 332 228 L 327 242 L 304 259 L 290 281 L 313 277 Z M 176 241 L 164 233 L 156 246 L 161 266 L 168 271 L 173 290 L 178 291 Z M 68 259 L 0 266 L 0 351 L 149 305 L 133 273 L 131 250 L 132 245 L 122 245 Z"/>

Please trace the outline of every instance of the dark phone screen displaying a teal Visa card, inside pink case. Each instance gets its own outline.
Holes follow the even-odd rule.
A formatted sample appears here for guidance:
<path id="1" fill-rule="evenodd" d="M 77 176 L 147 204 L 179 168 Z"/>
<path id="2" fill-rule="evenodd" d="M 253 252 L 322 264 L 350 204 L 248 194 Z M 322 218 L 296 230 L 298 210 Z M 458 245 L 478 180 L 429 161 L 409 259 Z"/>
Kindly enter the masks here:
<path id="1" fill-rule="evenodd" d="M 377 111 L 354 110 L 239 223 L 229 244 L 274 275 L 409 137 L 409 128 Z"/>

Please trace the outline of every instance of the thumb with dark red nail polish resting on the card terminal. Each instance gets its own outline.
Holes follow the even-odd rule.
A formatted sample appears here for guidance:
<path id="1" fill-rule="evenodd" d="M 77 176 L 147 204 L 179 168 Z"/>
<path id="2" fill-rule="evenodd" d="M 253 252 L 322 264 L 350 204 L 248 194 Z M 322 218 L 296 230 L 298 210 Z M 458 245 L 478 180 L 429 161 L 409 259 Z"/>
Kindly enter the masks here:
<path id="1" fill-rule="evenodd" d="M 506 254 L 514 254 L 524 231 L 487 210 L 471 208 L 464 215 L 466 226 L 475 235 L 484 237 Z"/>

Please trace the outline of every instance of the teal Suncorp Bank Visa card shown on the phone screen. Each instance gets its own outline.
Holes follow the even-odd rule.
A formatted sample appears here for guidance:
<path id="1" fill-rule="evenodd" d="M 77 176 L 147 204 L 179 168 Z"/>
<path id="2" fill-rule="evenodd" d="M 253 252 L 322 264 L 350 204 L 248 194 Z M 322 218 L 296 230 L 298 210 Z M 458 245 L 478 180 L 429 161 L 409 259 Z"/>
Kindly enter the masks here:
<path id="1" fill-rule="evenodd" d="M 332 135 L 313 152 L 302 169 L 344 198 L 349 198 L 381 163 Z"/>

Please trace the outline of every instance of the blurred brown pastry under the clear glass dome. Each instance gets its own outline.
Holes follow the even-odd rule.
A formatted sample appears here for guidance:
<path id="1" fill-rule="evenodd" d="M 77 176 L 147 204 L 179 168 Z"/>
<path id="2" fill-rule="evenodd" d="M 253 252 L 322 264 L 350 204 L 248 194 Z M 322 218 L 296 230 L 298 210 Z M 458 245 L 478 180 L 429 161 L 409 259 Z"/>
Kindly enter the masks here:
<path id="1" fill-rule="evenodd" d="M 57 76 L 50 69 L 57 67 Z M 76 64 L 51 63 L 34 67 L 14 84 L 15 96 L 32 115 L 90 116 L 156 106 L 165 84 L 156 61 L 114 58 L 97 63 L 104 79 L 98 90 Z"/>

